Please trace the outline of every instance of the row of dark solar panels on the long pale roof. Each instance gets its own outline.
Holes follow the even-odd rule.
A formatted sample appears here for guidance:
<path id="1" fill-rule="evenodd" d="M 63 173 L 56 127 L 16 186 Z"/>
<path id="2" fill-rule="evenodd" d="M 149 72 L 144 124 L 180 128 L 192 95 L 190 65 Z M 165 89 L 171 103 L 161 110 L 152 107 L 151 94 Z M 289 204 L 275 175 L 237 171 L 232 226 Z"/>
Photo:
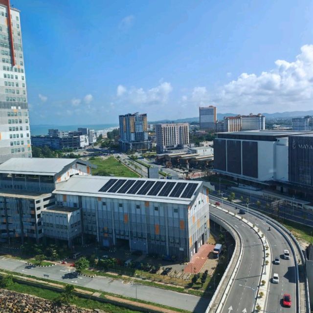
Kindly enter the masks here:
<path id="1" fill-rule="evenodd" d="M 99 192 L 187 199 L 193 196 L 198 185 L 176 181 L 109 179 Z"/>

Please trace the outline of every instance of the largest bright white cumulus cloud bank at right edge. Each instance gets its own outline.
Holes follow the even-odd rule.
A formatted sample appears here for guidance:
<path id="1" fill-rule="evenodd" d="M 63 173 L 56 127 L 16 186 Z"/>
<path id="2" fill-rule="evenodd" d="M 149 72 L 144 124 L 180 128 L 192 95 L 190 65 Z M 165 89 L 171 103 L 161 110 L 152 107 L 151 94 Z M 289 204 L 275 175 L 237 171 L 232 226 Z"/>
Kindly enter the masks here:
<path id="1" fill-rule="evenodd" d="M 216 105 L 246 112 L 310 110 L 312 98 L 313 45 L 303 45 L 293 62 L 277 60 L 260 75 L 242 73 L 210 95 Z"/>

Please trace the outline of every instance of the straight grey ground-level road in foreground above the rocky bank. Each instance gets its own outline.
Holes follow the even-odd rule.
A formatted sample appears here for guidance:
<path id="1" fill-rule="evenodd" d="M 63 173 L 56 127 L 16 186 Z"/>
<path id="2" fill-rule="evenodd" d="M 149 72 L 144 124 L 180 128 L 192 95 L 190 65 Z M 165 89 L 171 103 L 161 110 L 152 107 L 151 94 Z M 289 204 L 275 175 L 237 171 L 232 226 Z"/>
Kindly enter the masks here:
<path id="1" fill-rule="evenodd" d="M 205 312 L 209 304 L 208 298 L 201 298 L 191 294 L 134 284 L 110 277 L 90 278 L 77 276 L 76 273 L 74 273 L 74 268 L 63 265 L 55 265 L 47 268 L 33 268 L 27 266 L 23 261 L 1 256 L 0 268 L 40 278 L 44 278 L 44 274 L 46 274 L 49 275 L 48 279 L 95 290 L 107 291 L 126 297 L 136 298 L 137 295 L 137 298 L 140 300 L 155 302 L 195 313 Z"/>

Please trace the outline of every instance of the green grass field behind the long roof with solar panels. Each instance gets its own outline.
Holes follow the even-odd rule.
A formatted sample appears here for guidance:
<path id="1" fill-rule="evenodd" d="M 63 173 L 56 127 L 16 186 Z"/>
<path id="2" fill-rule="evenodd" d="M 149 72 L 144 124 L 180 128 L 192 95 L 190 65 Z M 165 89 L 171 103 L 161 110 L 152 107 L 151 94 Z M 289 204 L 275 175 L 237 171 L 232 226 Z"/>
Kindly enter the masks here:
<path id="1" fill-rule="evenodd" d="M 92 175 L 99 176 L 118 176 L 118 177 L 139 177 L 139 175 L 127 166 L 117 160 L 114 156 L 106 159 L 95 157 L 89 160 L 92 164 L 97 165 L 96 169 L 92 169 Z"/>

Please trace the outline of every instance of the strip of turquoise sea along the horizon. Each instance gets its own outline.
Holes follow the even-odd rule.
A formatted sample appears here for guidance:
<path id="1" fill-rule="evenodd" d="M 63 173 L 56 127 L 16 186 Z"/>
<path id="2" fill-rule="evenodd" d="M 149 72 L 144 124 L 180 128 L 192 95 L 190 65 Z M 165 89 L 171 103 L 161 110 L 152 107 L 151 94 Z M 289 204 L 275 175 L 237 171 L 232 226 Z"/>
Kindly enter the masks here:
<path id="1" fill-rule="evenodd" d="M 56 124 L 30 124 L 31 135 L 46 135 L 49 129 L 59 129 L 60 131 L 77 131 L 77 128 L 89 128 L 95 131 L 110 130 L 118 128 L 117 124 L 76 124 L 76 125 L 56 125 Z"/>

